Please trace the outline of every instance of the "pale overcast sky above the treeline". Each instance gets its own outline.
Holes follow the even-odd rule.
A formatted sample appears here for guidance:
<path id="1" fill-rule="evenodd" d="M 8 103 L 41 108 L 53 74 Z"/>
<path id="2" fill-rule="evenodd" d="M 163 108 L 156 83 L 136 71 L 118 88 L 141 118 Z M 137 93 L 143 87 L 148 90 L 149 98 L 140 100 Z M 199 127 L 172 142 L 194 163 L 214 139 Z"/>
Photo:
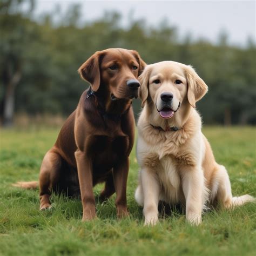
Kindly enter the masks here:
<path id="1" fill-rule="evenodd" d="M 244 45 L 247 38 L 255 40 L 255 1 L 76 1 L 37 0 L 36 15 L 50 12 L 59 4 L 63 13 L 70 4 L 80 3 L 84 21 L 102 17 L 104 11 L 118 11 L 127 25 L 129 16 L 144 18 L 146 24 L 156 25 L 167 18 L 177 26 L 182 38 L 206 38 L 216 42 L 220 31 L 228 33 L 228 42 Z"/>

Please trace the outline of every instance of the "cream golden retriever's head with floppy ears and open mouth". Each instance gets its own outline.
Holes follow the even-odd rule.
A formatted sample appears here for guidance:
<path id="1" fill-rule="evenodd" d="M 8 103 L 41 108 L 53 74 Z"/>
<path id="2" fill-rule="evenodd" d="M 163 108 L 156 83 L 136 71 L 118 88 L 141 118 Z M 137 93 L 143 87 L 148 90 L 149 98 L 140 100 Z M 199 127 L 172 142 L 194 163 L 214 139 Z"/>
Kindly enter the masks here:
<path id="1" fill-rule="evenodd" d="M 196 107 L 208 89 L 191 66 L 171 61 L 148 65 L 139 80 L 142 106 L 153 103 L 164 119 L 173 117 L 183 104 Z"/>

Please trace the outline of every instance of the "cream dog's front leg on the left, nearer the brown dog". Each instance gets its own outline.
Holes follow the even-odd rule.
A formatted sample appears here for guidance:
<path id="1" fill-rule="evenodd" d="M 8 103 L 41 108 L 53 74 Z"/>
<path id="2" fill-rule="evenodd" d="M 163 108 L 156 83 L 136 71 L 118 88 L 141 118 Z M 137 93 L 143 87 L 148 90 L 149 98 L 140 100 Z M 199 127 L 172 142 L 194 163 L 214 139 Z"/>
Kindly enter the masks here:
<path id="1" fill-rule="evenodd" d="M 147 168 L 142 169 L 140 175 L 144 195 L 144 225 L 156 225 L 158 223 L 159 181 L 156 173 Z"/>

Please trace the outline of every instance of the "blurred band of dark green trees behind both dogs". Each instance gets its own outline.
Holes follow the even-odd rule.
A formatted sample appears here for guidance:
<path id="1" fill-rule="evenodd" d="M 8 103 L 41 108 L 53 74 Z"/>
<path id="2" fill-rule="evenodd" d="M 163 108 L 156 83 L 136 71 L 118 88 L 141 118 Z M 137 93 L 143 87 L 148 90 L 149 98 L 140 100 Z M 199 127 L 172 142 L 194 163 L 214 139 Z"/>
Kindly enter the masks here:
<path id="1" fill-rule="evenodd" d="M 25 7 L 24 8 L 24 4 Z M 178 40 L 178 29 L 163 22 L 152 27 L 106 12 L 93 22 L 80 22 L 79 5 L 64 16 L 58 12 L 32 17 L 33 0 L 0 0 L 0 100 L 4 126 L 14 114 L 68 116 L 86 89 L 77 69 L 95 51 L 134 49 L 146 63 L 174 60 L 190 64 L 209 86 L 198 103 L 206 124 L 256 124 L 256 46 L 228 45 L 220 33 L 218 43 L 191 36 Z M 135 100 L 134 112 L 140 111 Z"/>

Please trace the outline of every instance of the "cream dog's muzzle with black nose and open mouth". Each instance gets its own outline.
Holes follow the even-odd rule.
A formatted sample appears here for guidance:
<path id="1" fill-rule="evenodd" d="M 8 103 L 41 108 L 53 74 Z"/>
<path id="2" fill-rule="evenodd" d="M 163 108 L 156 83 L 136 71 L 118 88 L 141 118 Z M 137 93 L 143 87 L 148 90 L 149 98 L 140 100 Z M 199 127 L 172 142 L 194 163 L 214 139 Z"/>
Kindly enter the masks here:
<path id="1" fill-rule="evenodd" d="M 159 112 L 162 118 L 171 118 L 173 114 L 178 111 L 180 107 L 180 102 L 178 103 L 178 107 L 174 110 L 175 104 L 173 104 L 173 94 L 171 92 L 162 92 L 160 95 L 160 101 L 156 103 L 157 111 Z"/>

